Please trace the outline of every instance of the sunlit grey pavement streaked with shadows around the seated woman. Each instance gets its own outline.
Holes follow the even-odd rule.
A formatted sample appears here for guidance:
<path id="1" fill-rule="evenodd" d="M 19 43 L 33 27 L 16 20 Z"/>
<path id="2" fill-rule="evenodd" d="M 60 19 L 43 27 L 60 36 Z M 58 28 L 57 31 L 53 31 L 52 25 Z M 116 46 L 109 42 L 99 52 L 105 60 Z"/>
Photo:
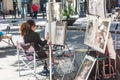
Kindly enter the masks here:
<path id="1" fill-rule="evenodd" d="M 26 17 L 24 19 L 12 19 L 11 16 L 6 16 L 6 19 L 0 18 L 0 30 L 6 33 L 7 26 L 10 26 L 10 34 L 13 35 L 13 42 L 16 45 L 17 41 L 22 42 L 23 39 L 20 36 L 19 33 L 19 25 L 26 20 L 31 19 L 31 17 Z M 46 24 L 46 19 L 43 19 L 41 17 L 38 17 L 37 20 L 35 20 L 36 24 L 39 26 L 37 28 L 37 32 L 40 34 L 41 38 L 44 38 L 44 25 Z M 114 31 L 115 25 L 118 22 L 112 22 L 111 24 L 111 31 Z M 76 22 L 73 24 L 73 26 L 68 26 L 68 30 L 66 32 L 66 44 L 71 50 L 78 51 L 78 56 L 76 59 L 83 59 L 83 54 L 87 50 L 87 46 L 84 45 L 84 35 L 85 35 L 85 28 L 87 24 L 87 18 L 81 17 L 76 20 Z M 120 28 L 118 29 L 120 30 Z M 8 41 L 8 40 L 6 40 Z M 78 60 L 79 61 L 79 60 Z M 80 64 L 82 62 L 79 61 Z M 9 46 L 8 44 L 4 42 L 0 42 L 0 80 L 35 80 L 35 78 L 32 75 L 22 76 L 19 77 L 18 73 L 18 58 L 16 49 L 12 46 Z M 43 66 L 40 66 L 38 68 L 38 72 L 42 70 Z M 27 73 L 24 72 L 26 75 Z M 39 76 L 39 75 L 38 75 Z M 44 76 L 39 76 L 40 80 L 47 80 L 44 79 Z"/>

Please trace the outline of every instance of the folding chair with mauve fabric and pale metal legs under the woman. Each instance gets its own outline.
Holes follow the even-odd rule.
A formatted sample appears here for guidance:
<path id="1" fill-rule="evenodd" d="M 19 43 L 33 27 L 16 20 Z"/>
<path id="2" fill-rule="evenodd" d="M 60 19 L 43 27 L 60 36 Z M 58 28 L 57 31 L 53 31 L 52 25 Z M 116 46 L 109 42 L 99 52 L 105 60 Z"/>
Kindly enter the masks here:
<path id="1" fill-rule="evenodd" d="M 36 77 L 36 53 L 33 48 L 33 43 L 17 43 L 17 54 L 19 76 L 21 76 L 21 67 L 23 67 L 23 69 L 29 70 L 30 73 L 32 73 Z"/>

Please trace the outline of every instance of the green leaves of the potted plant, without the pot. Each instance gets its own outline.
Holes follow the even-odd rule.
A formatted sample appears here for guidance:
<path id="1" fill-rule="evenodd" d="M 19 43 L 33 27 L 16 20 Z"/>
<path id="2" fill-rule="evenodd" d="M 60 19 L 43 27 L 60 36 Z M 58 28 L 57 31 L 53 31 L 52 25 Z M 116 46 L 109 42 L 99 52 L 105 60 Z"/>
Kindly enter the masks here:
<path id="1" fill-rule="evenodd" d="M 64 5 L 64 9 L 62 11 L 62 16 L 66 16 L 66 18 L 70 18 L 71 15 L 74 14 L 73 6 L 69 5 L 68 7 Z"/>

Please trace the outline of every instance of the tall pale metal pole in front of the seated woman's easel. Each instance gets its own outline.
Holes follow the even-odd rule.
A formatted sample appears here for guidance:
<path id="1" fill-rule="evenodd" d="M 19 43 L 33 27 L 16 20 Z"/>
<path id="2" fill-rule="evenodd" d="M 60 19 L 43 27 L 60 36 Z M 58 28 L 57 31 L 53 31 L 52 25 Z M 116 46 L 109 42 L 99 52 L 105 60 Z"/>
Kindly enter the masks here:
<path id="1" fill-rule="evenodd" d="M 51 53 L 52 53 L 52 47 L 51 47 L 51 0 L 48 1 L 48 25 L 49 25 L 49 64 L 50 64 L 50 80 L 52 80 L 52 59 L 51 59 Z"/>

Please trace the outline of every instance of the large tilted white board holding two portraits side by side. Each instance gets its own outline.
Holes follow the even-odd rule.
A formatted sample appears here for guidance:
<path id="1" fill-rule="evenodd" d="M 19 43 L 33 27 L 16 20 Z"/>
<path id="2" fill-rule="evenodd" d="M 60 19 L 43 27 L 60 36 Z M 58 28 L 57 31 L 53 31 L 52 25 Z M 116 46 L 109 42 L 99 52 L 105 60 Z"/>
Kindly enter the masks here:
<path id="1" fill-rule="evenodd" d="M 110 24 L 111 19 L 109 18 L 103 19 L 89 17 L 85 32 L 84 44 L 101 53 L 104 53 L 108 40 Z"/>

